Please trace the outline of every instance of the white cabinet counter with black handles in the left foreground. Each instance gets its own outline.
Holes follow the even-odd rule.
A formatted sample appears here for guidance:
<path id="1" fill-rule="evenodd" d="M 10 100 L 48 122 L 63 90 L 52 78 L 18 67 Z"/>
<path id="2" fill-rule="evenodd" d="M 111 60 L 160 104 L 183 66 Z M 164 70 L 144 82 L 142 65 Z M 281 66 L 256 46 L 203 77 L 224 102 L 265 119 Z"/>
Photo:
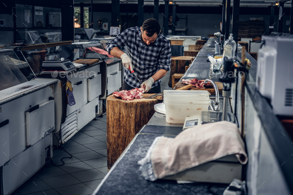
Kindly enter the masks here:
<path id="1" fill-rule="evenodd" d="M 0 189 L 9 195 L 53 157 L 57 79 L 34 79 L 0 91 Z M 56 97 L 56 96 L 54 96 Z"/>

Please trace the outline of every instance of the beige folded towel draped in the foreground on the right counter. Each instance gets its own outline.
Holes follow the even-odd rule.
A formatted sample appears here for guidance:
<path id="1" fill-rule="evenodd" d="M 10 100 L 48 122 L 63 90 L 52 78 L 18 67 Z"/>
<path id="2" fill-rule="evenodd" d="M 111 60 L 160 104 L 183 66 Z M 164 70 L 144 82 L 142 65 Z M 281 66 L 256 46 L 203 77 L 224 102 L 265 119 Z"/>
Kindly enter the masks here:
<path id="1" fill-rule="evenodd" d="M 155 178 L 160 179 L 231 154 L 246 164 L 244 142 L 237 126 L 221 121 L 189 128 L 175 138 L 159 138 L 150 160 Z"/>

